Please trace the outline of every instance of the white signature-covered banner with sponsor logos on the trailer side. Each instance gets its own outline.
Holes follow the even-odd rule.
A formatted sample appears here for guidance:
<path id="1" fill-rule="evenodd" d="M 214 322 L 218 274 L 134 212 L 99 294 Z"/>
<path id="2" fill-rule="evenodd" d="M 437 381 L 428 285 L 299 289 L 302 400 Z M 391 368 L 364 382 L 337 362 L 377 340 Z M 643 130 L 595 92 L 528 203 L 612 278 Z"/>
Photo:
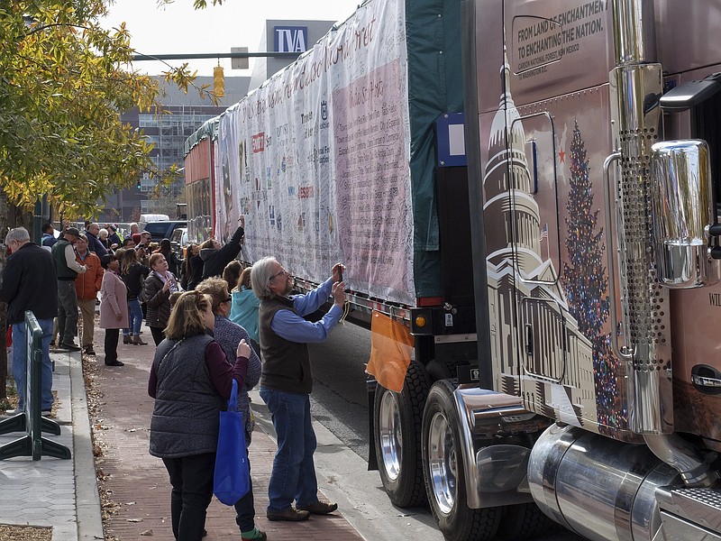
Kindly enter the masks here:
<path id="1" fill-rule="evenodd" d="M 415 304 L 405 24 L 370 2 L 221 117 L 215 234 L 245 215 L 245 259 Z"/>

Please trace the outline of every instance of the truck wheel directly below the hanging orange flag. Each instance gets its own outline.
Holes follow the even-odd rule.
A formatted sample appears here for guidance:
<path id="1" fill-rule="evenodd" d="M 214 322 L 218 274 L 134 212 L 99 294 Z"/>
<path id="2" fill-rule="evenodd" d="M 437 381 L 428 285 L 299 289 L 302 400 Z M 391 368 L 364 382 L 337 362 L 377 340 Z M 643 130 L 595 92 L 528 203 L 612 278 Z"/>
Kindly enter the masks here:
<path id="1" fill-rule="evenodd" d="M 378 386 L 374 407 L 376 455 L 380 480 L 398 507 L 424 505 L 421 472 L 421 420 L 428 380 L 423 367 L 411 361 L 401 393 Z"/>

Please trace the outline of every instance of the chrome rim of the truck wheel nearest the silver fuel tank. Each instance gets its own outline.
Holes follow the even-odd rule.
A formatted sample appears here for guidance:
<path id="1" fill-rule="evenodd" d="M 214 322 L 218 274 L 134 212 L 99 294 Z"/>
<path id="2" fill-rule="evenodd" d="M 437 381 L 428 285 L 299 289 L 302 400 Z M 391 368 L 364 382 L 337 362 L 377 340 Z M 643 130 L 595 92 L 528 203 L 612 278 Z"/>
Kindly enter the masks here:
<path id="1" fill-rule="evenodd" d="M 451 426 L 443 413 L 437 412 L 428 431 L 428 470 L 434 500 L 443 515 L 451 513 L 455 505 L 456 466 Z"/>

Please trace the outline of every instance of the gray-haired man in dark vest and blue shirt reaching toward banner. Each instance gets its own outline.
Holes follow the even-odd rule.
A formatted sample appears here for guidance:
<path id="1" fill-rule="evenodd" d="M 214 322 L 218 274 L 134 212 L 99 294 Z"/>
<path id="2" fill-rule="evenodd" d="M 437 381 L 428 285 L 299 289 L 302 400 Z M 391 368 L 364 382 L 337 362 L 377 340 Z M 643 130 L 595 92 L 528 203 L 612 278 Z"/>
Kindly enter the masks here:
<path id="1" fill-rule="evenodd" d="M 288 297 L 293 280 L 275 258 L 263 258 L 252 267 L 253 292 L 260 298 L 260 397 L 268 405 L 278 434 L 278 452 L 268 485 L 269 520 L 300 521 L 311 514 L 327 515 L 338 509 L 335 503 L 318 500 L 309 398 L 313 372 L 307 344 L 324 342 L 341 319 L 343 270 L 337 263 L 333 276 L 320 287 L 306 295 Z M 323 306 L 331 295 L 333 307 L 320 321 L 311 323 L 303 318 Z"/>

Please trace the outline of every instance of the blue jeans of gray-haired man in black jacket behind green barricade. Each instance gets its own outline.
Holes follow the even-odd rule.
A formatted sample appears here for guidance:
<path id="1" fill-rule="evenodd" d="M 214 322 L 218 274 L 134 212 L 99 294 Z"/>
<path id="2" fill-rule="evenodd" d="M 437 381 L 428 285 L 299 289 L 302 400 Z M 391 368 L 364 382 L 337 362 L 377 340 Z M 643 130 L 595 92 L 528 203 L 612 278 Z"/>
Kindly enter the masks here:
<path id="1" fill-rule="evenodd" d="M 72 283 L 72 282 L 71 282 Z M 50 362 L 50 339 L 52 338 L 52 318 L 38 319 L 42 330 L 42 364 L 41 364 L 41 410 L 52 408 L 52 362 Z M 13 324 L 13 378 L 18 395 L 18 408 L 25 407 L 25 322 Z"/>

